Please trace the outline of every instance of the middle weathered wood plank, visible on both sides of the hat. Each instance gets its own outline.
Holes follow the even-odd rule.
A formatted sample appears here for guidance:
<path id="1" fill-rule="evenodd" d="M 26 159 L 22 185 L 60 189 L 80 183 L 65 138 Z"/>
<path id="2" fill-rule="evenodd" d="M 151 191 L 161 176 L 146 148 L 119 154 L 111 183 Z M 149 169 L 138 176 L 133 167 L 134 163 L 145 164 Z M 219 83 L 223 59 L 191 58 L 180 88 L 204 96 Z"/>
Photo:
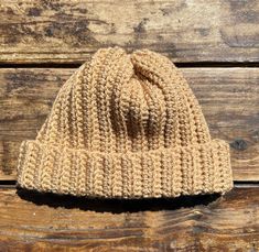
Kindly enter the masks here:
<path id="1" fill-rule="evenodd" d="M 34 139 L 75 69 L 0 69 L 0 179 L 15 179 L 22 140 Z M 213 138 L 231 145 L 235 180 L 259 180 L 259 68 L 182 68 Z"/>

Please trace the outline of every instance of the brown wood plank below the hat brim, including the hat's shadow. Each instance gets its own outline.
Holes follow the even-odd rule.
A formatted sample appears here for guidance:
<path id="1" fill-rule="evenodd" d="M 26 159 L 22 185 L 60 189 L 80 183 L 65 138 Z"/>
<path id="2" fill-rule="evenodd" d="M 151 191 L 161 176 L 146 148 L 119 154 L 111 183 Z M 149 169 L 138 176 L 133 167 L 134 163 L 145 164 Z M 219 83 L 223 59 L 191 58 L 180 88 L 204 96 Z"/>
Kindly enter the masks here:
<path id="1" fill-rule="evenodd" d="M 149 200 L 1 189 L 0 216 L 0 251 L 259 250 L 259 188 Z"/>

